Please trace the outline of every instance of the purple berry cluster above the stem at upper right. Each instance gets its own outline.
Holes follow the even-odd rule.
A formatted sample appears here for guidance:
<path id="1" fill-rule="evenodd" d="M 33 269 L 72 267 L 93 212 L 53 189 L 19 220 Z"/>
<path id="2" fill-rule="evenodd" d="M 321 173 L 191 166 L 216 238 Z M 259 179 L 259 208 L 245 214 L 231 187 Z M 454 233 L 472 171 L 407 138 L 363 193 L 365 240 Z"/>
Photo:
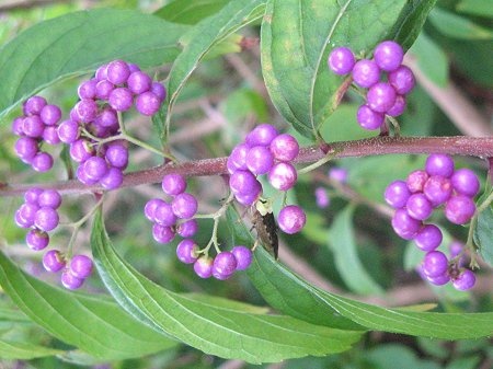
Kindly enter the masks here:
<path id="1" fill-rule="evenodd" d="M 412 70 L 402 65 L 404 51 L 393 41 L 377 45 L 372 59 L 356 61 L 347 47 L 336 47 L 329 56 L 329 67 L 336 74 L 352 73 L 353 82 L 368 89 L 366 103 L 356 114 L 358 124 L 365 129 L 378 129 L 386 115 L 399 116 L 405 109 L 405 95 L 414 88 Z M 383 78 L 386 77 L 386 78 Z"/>

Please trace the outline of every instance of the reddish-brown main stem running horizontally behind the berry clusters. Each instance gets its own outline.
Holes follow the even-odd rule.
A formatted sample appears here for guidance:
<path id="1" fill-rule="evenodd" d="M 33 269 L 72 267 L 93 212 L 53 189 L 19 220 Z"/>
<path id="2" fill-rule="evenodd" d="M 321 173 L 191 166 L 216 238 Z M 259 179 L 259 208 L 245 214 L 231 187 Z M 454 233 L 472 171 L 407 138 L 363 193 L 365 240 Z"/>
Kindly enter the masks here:
<path id="1" fill-rule="evenodd" d="M 362 140 L 340 141 L 330 143 L 334 159 L 349 157 L 369 157 L 382 154 L 428 154 L 448 153 L 479 158 L 493 157 L 493 137 L 374 137 Z M 300 150 L 295 163 L 312 163 L 325 157 L 319 147 L 308 147 Z M 185 176 L 204 176 L 226 174 L 227 158 L 203 159 L 182 164 L 163 164 L 142 171 L 127 173 L 123 187 L 161 182 L 164 174 L 179 173 Z M 82 193 L 103 191 L 98 185 L 85 186 L 78 181 L 65 181 L 45 184 L 8 184 L 0 186 L 0 196 L 20 196 L 27 188 L 38 186 L 56 188 L 60 193 Z"/>

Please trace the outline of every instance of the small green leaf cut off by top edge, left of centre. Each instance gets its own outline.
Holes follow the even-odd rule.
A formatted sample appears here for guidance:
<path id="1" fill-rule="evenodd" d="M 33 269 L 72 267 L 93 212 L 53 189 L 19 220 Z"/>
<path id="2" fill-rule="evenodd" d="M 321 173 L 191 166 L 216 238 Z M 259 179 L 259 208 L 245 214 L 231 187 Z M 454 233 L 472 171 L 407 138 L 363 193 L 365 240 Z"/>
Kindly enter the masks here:
<path id="1" fill-rule="evenodd" d="M 169 22 L 196 24 L 217 13 L 229 0 L 174 0 L 154 12 Z"/>

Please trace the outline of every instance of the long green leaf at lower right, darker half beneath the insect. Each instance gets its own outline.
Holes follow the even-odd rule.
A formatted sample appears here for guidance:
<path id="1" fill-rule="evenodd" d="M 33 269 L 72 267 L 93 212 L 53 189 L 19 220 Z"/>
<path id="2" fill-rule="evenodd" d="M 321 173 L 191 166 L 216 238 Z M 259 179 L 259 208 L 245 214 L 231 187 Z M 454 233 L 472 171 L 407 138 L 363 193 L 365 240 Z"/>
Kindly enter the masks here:
<path id="1" fill-rule="evenodd" d="M 412 312 L 358 302 L 309 285 L 262 249 L 255 252 L 249 276 L 273 308 L 313 324 L 333 326 L 330 318 L 346 319 L 368 330 L 444 339 L 493 334 L 493 312 Z"/>

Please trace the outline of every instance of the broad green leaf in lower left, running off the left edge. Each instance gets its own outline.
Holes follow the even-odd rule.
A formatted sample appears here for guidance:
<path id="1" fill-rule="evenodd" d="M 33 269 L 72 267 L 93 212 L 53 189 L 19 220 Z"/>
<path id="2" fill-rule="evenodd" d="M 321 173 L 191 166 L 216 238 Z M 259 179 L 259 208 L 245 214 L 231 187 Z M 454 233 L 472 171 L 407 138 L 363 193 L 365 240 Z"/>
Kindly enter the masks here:
<path id="1" fill-rule="evenodd" d="M 96 358 L 140 357 L 176 344 L 104 297 L 64 291 L 31 277 L 1 252 L 0 285 L 33 322 Z"/>

